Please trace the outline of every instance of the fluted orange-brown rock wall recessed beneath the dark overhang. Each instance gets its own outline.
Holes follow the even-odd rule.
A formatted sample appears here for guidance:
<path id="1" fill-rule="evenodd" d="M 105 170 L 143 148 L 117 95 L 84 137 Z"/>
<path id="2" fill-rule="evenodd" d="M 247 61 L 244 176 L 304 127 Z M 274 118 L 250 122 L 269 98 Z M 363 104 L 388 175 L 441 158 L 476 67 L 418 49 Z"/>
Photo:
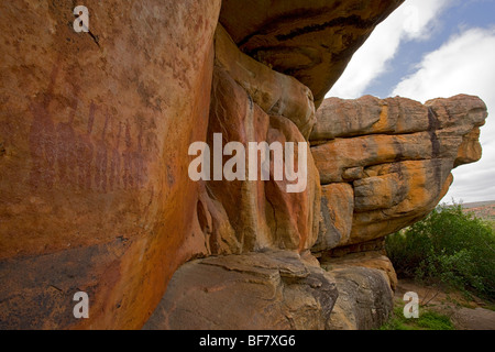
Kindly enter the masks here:
<path id="1" fill-rule="evenodd" d="M 222 134 L 223 145 L 240 142 L 245 151 L 250 142 L 279 142 L 282 145 L 293 142 L 294 163 L 297 165 L 298 143 L 301 142 L 307 155 L 307 180 L 302 191 L 287 193 L 287 186 L 297 182 L 288 182 L 285 176 L 282 180 L 275 180 L 273 157 L 268 180 L 262 180 L 261 175 L 257 180 L 250 180 L 248 166 L 245 180 L 208 180 L 202 193 L 207 207 L 202 207 L 202 213 L 198 216 L 211 218 L 211 227 L 202 226 L 208 253 L 310 249 L 318 237 L 320 180 L 309 144 L 292 121 L 297 122 L 295 117 L 300 117 L 300 113 L 306 117 L 312 113 L 311 95 L 294 78 L 271 70 L 239 52 L 221 28 L 217 31 L 215 43 L 212 102 L 207 138 L 210 150 L 213 151 L 216 133 Z M 257 89 L 253 88 L 256 87 L 253 77 L 262 79 Z M 290 101 L 290 105 L 284 101 Z M 299 128 L 307 125 L 308 120 L 305 118 Z M 285 153 L 287 151 L 284 147 Z M 230 158 L 224 156 L 223 164 Z M 285 162 L 282 166 L 285 166 Z M 257 169 L 261 170 L 260 161 Z"/>

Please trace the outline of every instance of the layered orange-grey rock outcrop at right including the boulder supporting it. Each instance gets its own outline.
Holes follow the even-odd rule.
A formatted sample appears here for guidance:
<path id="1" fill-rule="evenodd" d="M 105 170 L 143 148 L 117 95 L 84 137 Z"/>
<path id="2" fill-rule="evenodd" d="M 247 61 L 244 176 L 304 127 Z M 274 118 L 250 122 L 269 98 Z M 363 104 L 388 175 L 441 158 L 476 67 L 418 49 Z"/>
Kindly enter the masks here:
<path id="1" fill-rule="evenodd" d="M 328 329 L 385 321 L 397 277 L 384 238 L 438 205 L 452 168 L 481 158 L 486 117 L 485 103 L 465 95 L 425 105 L 370 96 L 323 101 L 310 140 L 322 184 L 312 251 L 339 292 Z"/>

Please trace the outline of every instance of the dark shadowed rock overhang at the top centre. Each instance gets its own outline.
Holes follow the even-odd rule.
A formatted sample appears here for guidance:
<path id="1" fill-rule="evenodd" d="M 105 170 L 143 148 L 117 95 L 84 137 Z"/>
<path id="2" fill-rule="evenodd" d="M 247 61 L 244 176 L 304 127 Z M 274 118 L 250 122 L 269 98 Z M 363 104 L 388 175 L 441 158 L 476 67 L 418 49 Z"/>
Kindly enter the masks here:
<path id="1" fill-rule="evenodd" d="M 318 107 L 375 26 L 404 0 L 224 0 L 241 51 L 309 87 Z"/>

